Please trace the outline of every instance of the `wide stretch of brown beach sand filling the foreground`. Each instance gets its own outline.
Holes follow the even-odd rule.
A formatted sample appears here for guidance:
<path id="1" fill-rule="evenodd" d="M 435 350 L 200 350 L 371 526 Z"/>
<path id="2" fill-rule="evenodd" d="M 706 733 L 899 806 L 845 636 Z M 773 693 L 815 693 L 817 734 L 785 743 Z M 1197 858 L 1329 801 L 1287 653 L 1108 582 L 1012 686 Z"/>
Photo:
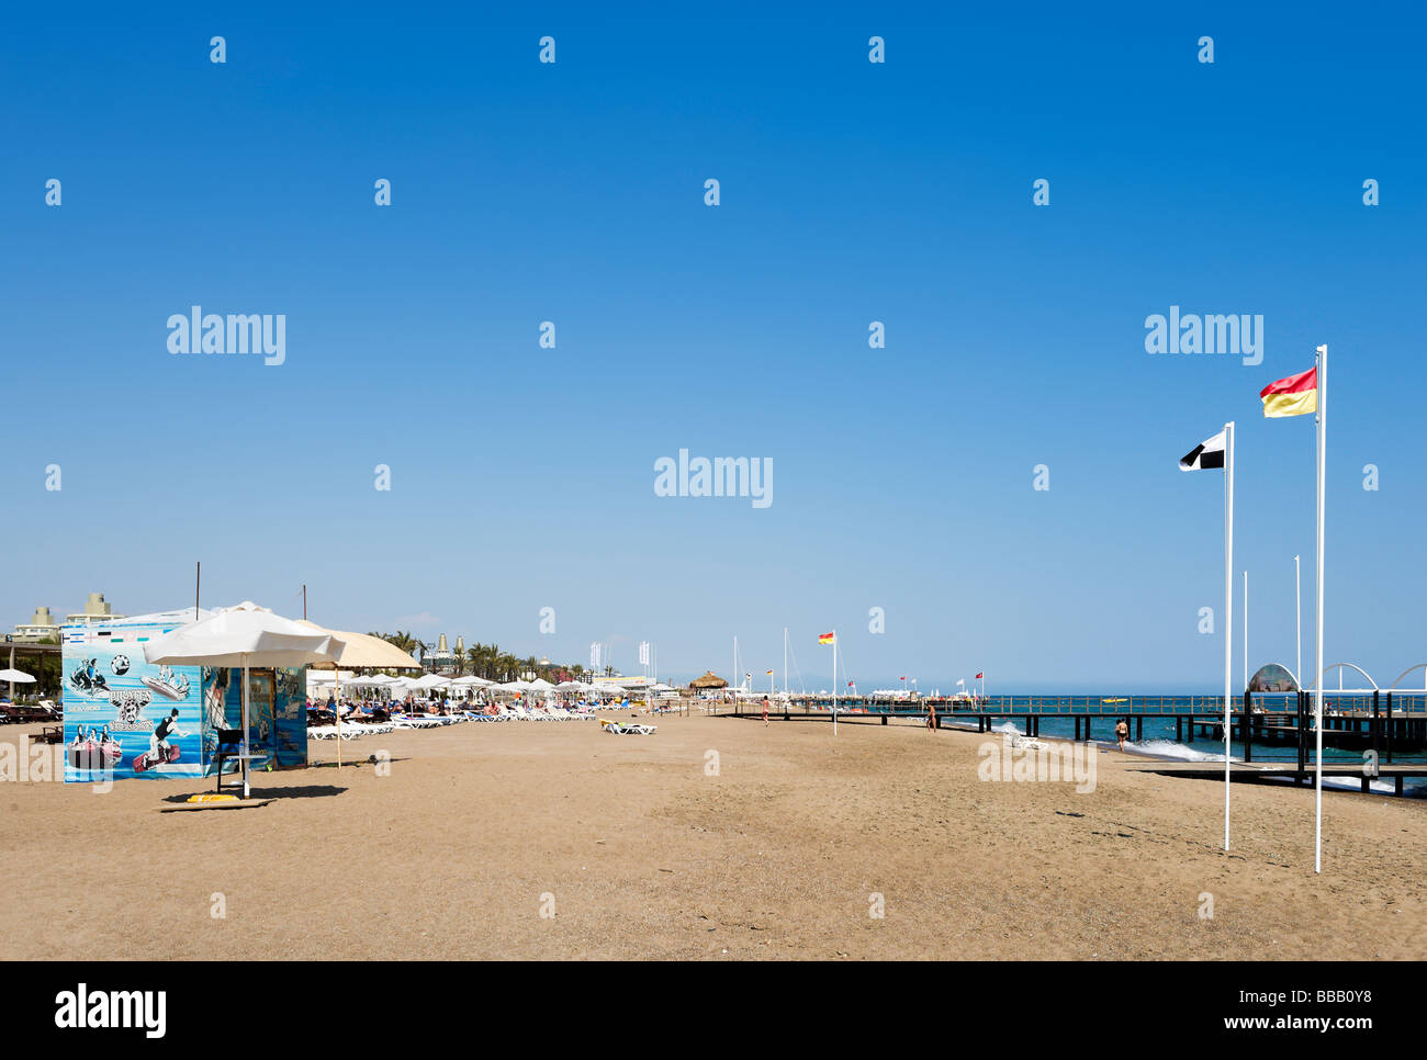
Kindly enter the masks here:
<path id="1" fill-rule="evenodd" d="M 344 758 L 390 776 L 257 773 L 251 809 L 0 785 L 0 957 L 1424 956 L 1420 799 L 1324 795 L 1314 876 L 1306 789 L 1236 783 L 1226 855 L 1222 783 L 1117 752 L 1076 793 L 979 780 L 975 733 L 652 720 L 367 736 Z"/>

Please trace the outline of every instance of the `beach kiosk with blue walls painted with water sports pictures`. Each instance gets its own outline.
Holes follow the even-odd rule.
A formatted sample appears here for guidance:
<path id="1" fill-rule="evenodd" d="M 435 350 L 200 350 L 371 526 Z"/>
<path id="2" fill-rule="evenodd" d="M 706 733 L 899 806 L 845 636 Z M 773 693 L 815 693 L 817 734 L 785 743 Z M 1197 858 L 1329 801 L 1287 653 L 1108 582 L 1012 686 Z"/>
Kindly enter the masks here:
<path id="1" fill-rule="evenodd" d="M 144 658 L 146 645 L 210 616 L 186 608 L 61 628 L 66 782 L 213 776 L 218 733 L 243 726 L 243 671 Z M 258 765 L 307 765 L 304 668 L 251 669 L 248 698 Z"/>

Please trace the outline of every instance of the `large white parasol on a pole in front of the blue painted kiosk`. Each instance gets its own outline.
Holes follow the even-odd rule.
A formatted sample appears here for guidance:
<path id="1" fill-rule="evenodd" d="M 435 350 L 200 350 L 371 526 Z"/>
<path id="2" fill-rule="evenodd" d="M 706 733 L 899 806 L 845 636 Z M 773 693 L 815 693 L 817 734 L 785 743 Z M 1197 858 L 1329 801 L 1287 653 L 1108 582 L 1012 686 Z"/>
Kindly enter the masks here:
<path id="1" fill-rule="evenodd" d="M 243 797 L 248 797 L 248 668 L 307 666 L 334 662 L 342 642 L 274 615 L 251 601 L 218 608 L 208 618 L 178 626 L 144 643 L 144 662 L 166 666 L 243 668 Z"/>

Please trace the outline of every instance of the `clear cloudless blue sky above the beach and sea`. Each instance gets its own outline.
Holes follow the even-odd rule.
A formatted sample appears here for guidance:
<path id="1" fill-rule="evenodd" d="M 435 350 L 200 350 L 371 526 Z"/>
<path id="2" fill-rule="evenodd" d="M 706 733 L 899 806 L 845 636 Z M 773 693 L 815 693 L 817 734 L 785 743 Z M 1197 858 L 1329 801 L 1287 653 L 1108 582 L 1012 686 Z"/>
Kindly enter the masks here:
<path id="1" fill-rule="evenodd" d="M 1236 589 L 1249 569 L 1253 665 L 1291 666 L 1313 425 L 1257 392 L 1327 342 L 1327 655 L 1386 683 L 1427 658 L 1420 30 L 1227 4 L 20 13 L 4 622 L 91 591 L 181 606 L 201 559 L 205 605 L 295 613 L 305 582 L 334 628 L 602 641 L 631 672 L 641 639 L 665 675 L 726 672 L 738 635 L 762 675 L 788 626 L 826 685 L 838 628 L 863 688 L 1213 690 L 1222 481 L 1176 461 L 1240 425 Z M 193 304 L 285 314 L 285 364 L 168 354 Z M 1146 354 L 1170 305 L 1263 314 L 1263 362 Z M 681 448 L 772 459 L 773 504 L 656 496 Z"/>

